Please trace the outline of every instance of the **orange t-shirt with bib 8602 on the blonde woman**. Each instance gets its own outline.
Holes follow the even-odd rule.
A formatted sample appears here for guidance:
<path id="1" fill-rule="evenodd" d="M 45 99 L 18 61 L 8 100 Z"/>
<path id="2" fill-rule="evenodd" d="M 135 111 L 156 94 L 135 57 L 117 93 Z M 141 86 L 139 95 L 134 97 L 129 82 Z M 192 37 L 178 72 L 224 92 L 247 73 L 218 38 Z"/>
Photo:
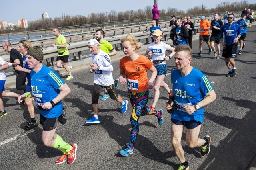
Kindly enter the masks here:
<path id="1" fill-rule="evenodd" d="M 134 93 L 145 92 L 148 90 L 147 69 L 150 69 L 153 63 L 144 55 L 139 55 L 138 59 L 130 61 L 128 57 L 120 60 L 119 68 L 125 71 L 127 78 L 127 89 Z"/>

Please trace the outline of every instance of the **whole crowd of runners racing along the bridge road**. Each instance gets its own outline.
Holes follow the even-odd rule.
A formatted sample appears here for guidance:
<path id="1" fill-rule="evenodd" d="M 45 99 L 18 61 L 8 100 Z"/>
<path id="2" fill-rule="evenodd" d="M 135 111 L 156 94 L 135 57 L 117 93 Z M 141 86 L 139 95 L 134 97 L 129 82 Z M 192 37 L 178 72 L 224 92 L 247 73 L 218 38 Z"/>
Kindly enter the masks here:
<path id="1" fill-rule="evenodd" d="M 154 8 L 157 8 L 154 4 Z M 154 9 L 156 10 L 156 9 Z M 152 11 L 153 12 L 153 11 Z M 225 22 L 220 19 L 220 14 L 214 14 L 214 20 L 206 20 L 202 15 L 200 17 L 200 35 L 199 35 L 199 53 L 203 56 L 203 42 L 208 45 L 207 55 L 212 54 L 216 59 L 221 57 L 221 46 L 223 47 L 222 57 L 228 68 L 226 77 L 234 77 L 237 74 L 237 68 L 234 59 L 237 54 L 242 54 L 245 46 L 247 27 L 251 27 L 251 18 L 254 13 L 252 10 L 245 10 L 241 18 L 235 23 L 234 14 L 226 12 Z M 121 39 L 122 51 L 124 57 L 120 59 L 120 74 L 118 78 L 113 78 L 113 66 L 111 56 L 116 55 L 114 47 L 104 40 L 105 32 L 102 29 L 96 30 L 96 39 L 90 39 L 88 48 L 92 57 L 92 64 L 88 73 L 94 74 L 94 85 L 92 93 L 93 115 L 86 123 L 100 123 L 98 113 L 98 99 L 104 89 L 104 95 L 100 100 L 111 98 L 120 104 L 120 112 L 126 113 L 128 100 L 122 99 L 115 93 L 118 84 L 127 84 L 128 98 L 132 107 L 130 117 L 131 133 L 130 141 L 120 150 L 122 156 L 128 156 L 134 152 L 134 144 L 138 138 L 139 118 L 140 116 L 156 116 L 159 125 L 164 122 L 163 114 L 171 113 L 171 142 L 174 152 L 180 160 L 179 170 L 188 170 L 188 161 L 184 156 L 181 145 L 183 130 L 186 127 L 186 141 L 191 148 L 201 147 L 201 156 L 206 156 L 210 152 L 210 135 L 199 138 L 200 128 L 204 117 L 204 106 L 207 106 L 216 99 L 214 89 L 205 74 L 200 70 L 193 68 L 192 63 L 192 37 L 194 24 L 191 22 L 191 16 L 177 18 L 171 16 L 170 21 L 170 38 L 173 41 L 173 47 L 164 43 L 162 40 L 162 30 L 158 27 L 158 19 L 152 20 L 152 27 L 148 37 L 151 36 L 152 43 L 146 49 L 144 55 L 136 52 L 142 47 L 142 43 L 136 40 L 132 34 Z M 210 36 L 211 33 L 211 36 Z M 64 68 L 68 73 L 66 80 L 74 78 L 72 75 L 72 66 L 68 65 L 68 45 L 66 39 L 60 34 L 58 28 L 53 29 L 56 36 L 56 43 L 52 44 L 57 48 L 58 55 L 56 66 Z M 240 47 L 238 49 L 238 43 Z M 216 47 L 214 46 L 216 44 Z M 42 141 L 48 147 L 61 149 L 63 155 L 55 162 L 61 164 L 68 161 L 72 164 L 76 160 L 76 143 L 68 144 L 56 134 L 58 122 L 65 124 L 66 107 L 62 105 L 62 100 L 70 94 L 68 85 L 58 76 L 56 72 L 42 64 L 44 55 L 42 50 L 37 46 L 32 46 L 30 41 L 21 40 L 17 51 L 12 48 L 9 41 L 2 43 L 3 49 L 10 53 L 10 61 L 6 62 L 0 57 L 0 96 L 18 98 L 18 102 L 26 104 L 31 121 L 24 127 L 25 130 L 38 126 L 35 117 L 33 100 L 40 112 L 40 124 L 42 125 Z M 166 56 L 166 51 L 171 51 Z M 22 55 L 23 57 L 22 57 Z M 175 69 L 171 72 L 172 84 L 166 84 L 164 78 L 167 74 L 166 60 L 175 58 Z M 24 94 L 20 95 L 14 92 L 5 92 L 4 84 L 6 80 L 4 70 L 12 66 L 16 74 L 16 89 L 21 90 Z M 151 72 L 148 78 L 147 72 Z M 25 84 L 27 79 L 27 84 Z M 155 82 L 154 82 L 155 80 Z M 156 110 L 156 104 L 160 97 L 159 88 L 166 90 L 169 101 L 166 102 L 166 108 Z M 170 88 L 171 87 L 171 88 Z M 150 96 L 150 89 L 153 89 L 153 102 L 147 106 Z M 6 116 L 4 104 L 0 98 L 0 118 Z"/>

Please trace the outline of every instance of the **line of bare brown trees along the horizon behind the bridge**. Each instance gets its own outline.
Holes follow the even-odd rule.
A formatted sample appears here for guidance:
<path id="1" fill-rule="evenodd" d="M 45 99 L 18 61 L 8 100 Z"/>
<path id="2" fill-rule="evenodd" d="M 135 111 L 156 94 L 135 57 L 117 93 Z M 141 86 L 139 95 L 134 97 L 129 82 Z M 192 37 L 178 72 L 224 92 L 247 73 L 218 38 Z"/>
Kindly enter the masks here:
<path id="1" fill-rule="evenodd" d="M 247 0 L 242 0 L 241 2 L 221 2 L 217 4 L 215 8 L 207 8 L 204 4 L 200 6 L 195 6 L 194 8 L 189 8 L 187 11 L 178 10 L 177 8 L 167 9 L 159 9 L 160 15 L 159 17 L 170 17 L 172 15 L 176 16 L 185 16 L 185 15 L 194 15 L 194 14 L 207 14 L 214 12 L 226 12 L 228 11 L 242 11 L 244 7 L 247 9 L 256 9 L 255 4 L 249 4 Z M 91 13 L 90 15 L 81 16 L 66 16 L 64 19 L 60 17 L 56 17 L 54 19 L 48 18 L 46 20 L 36 20 L 28 23 L 28 29 L 21 29 L 19 27 L 14 27 L 15 30 L 12 29 L 0 29 L 0 34 L 10 33 L 10 32 L 19 32 L 19 31 L 34 31 L 40 29 L 49 29 L 53 27 L 67 27 L 74 25 L 84 25 L 84 24 L 92 24 L 92 23 L 102 23 L 109 21 L 124 21 L 124 20 L 135 20 L 135 19 L 144 19 L 152 17 L 152 6 L 146 6 L 144 9 L 135 10 L 127 10 L 125 12 L 116 12 L 116 10 L 110 10 L 108 13 L 100 12 L 100 13 Z"/>

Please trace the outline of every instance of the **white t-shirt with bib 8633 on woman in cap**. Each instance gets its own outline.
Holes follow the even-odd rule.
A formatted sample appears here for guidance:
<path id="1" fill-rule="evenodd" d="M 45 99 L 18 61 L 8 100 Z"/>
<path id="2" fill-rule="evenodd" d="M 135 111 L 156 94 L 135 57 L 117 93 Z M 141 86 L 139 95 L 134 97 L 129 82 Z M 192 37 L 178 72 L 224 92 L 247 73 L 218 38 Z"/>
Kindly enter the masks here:
<path id="1" fill-rule="evenodd" d="M 162 63 L 156 64 L 156 65 L 161 65 L 166 63 L 164 59 L 165 52 L 170 48 L 171 46 L 169 44 L 166 44 L 161 41 L 161 44 L 159 45 L 156 45 L 155 42 L 151 43 L 150 45 L 148 45 L 147 50 L 152 52 L 152 55 L 151 55 L 152 60 L 164 60 Z"/>

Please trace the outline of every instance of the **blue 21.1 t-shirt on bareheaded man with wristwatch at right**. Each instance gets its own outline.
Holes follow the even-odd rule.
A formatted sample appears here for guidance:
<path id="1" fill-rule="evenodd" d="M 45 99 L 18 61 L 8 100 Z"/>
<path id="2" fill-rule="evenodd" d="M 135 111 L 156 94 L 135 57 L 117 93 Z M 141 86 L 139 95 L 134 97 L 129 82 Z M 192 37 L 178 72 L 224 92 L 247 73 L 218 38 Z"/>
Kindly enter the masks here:
<path id="1" fill-rule="evenodd" d="M 190 74 L 182 76 L 180 70 L 173 70 L 171 74 L 174 92 L 174 113 L 172 119 L 179 121 L 196 120 L 203 122 L 204 107 L 189 115 L 184 106 L 195 105 L 202 101 L 206 94 L 213 90 L 208 78 L 200 70 L 193 68 Z"/>

